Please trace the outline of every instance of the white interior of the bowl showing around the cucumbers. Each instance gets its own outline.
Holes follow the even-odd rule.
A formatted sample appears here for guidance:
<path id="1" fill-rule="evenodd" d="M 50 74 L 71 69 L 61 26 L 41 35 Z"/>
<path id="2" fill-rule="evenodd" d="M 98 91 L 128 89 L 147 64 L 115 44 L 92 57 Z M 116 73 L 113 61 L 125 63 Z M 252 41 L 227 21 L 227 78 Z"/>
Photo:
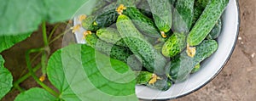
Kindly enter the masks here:
<path id="1" fill-rule="evenodd" d="M 90 3 L 91 4 L 91 3 Z M 86 6 L 84 6 L 86 9 Z M 79 12 L 79 14 L 89 14 L 90 11 Z M 194 92 L 206 85 L 223 68 L 225 62 L 230 58 L 230 54 L 236 44 L 237 31 L 239 25 L 239 12 L 236 0 L 230 0 L 230 3 L 223 14 L 223 29 L 218 37 L 218 50 L 210 58 L 201 64 L 201 70 L 191 75 L 187 81 L 174 84 L 168 91 L 161 92 L 145 86 L 137 86 L 136 93 L 138 98 L 143 99 L 168 99 L 182 97 L 183 95 Z M 74 20 L 74 25 L 79 22 Z M 84 29 L 75 33 L 78 43 L 85 43 L 82 40 Z"/>

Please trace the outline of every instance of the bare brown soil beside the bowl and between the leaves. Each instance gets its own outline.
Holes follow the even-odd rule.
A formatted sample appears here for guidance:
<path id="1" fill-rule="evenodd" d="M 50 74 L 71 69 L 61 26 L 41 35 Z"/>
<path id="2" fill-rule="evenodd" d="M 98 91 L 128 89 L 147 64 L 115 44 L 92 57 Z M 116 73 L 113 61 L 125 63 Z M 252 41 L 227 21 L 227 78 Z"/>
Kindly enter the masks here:
<path id="1" fill-rule="evenodd" d="M 195 93 L 191 93 L 175 101 L 253 101 L 256 98 L 256 1 L 240 0 L 241 26 L 239 40 L 229 62 L 225 65 L 219 75 L 207 86 L 202 87 Z M 52 29 L 54 25 L 48 25 Z M 66 25 L 61 25 L 55 33 L 64 31 Z M 50 31 L 50 30 L 49 30 Z M 16 44 L 13 48 L 4 51 L 6 67 L 13 73 L 14 80 L 26 73 L 25 52 L 30 48 L 41 48 L 43 46 L 41 31 L 36 31 L 26 41 Z M 56 36 L 56 34 L 54 34 Z M 35 40 L 37 39 L 37 40 Z M 50 45 L 51 53 L 61 48 L 62 39 Z M 21 50 L 21 51 L 20 51 Z M 32 54 L 32 57 L 35 54 Z M 39 59 L 34 61 L 37 64 Z M 41 72 L 37 72 L 40 76 Z M 45 81 L 48 85 L 49 81 Z M 20 87 L 29 89 L 39 87 L 30 77 L 20 84 Z M 2 101 L 12 101 L 19 91 L 13 90 Z"/>

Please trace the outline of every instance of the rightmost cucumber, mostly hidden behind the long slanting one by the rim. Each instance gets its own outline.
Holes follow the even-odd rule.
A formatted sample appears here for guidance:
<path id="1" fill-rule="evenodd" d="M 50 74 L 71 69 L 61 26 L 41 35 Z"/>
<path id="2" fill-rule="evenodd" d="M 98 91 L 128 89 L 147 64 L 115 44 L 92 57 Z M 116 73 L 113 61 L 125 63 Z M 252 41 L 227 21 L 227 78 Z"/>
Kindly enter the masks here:
<path id="1" fill-rule="evenodd" d="M 212 31 L 207 36 L 207 39 L 216 39 L 218 38 L 222 28 L 222 21 L 219 19 L 216 25 L 212 28 Z"/>

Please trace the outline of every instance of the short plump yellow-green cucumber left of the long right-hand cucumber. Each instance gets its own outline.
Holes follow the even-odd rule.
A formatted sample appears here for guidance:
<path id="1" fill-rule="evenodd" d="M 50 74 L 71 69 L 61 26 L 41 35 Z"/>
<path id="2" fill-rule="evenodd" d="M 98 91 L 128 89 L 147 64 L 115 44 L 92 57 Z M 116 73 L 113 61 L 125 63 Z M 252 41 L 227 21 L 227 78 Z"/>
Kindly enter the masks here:
<path id="1" fill-rule="evenodd" d="M 166 57 L 174 57 L 186 48 L 186 36 L 183 33 L 174 32 L 162 47 L 162 54 Z"/>

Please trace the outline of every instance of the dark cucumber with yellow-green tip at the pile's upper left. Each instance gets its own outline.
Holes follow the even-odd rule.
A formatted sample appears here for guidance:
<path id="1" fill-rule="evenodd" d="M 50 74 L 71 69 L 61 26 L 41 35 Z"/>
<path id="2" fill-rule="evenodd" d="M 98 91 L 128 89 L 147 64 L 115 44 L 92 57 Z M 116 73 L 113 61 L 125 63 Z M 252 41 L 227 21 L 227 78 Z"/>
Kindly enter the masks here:
<path id="1" fill-rule="evenodd" d="M 102 27 L 113 25 L 117 20 L 118 13 L 115 11 L 116 4 L 111 3 L 96 15 L 90 16 L 82 22 L 82 26 L 88 31 L 97 31 Z"/>

